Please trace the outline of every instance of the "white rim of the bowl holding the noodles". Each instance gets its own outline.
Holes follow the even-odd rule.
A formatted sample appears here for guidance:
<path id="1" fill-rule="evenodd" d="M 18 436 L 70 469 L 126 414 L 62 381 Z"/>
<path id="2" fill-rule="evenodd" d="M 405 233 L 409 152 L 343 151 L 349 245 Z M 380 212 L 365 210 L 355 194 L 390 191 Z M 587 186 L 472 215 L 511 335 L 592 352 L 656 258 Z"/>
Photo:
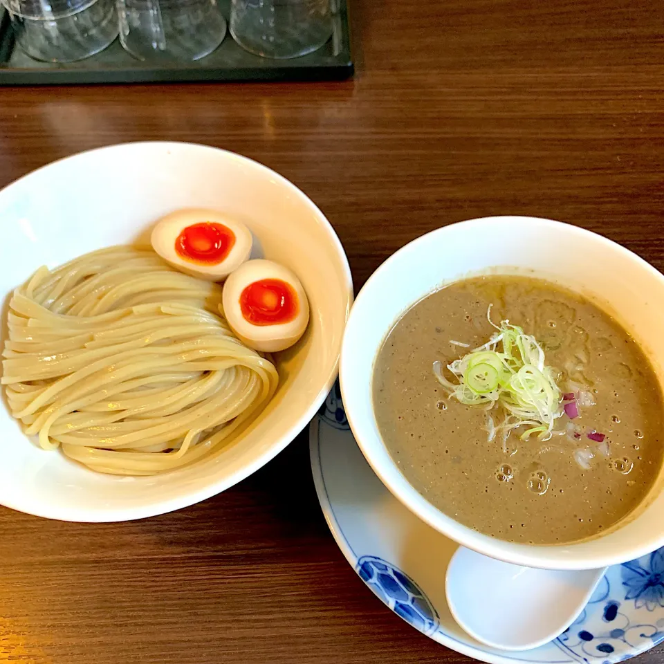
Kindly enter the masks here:
<path id="1" fill-rule="evenodd" d="M 40 174 L 46 169 L 54 168 L 62 163 L 67 163 L 70 160 L 80 160 L 81 158 L 89 157 L 98 152 L 109 153 L 111 151 L 120 152 L 120 151 L 133 151 L 140 149 L 148 150 L 164 150 L 169 149 L 182 149 L 190 148 L 194 151 L 200 152 L 214 152 L 220 153 L 226 159 L 232 159 L 236 162 L 243 163 L 252 169 L 257 169 L 264 174 L 270 176 L 280 185 L 286 188 L 293 196 L 297 197 L 304 205 L 306 205 L 313 215 L 316 217 L 317 221 L 320 223 L 321 227 L 324 228 L 331 246 L 335 250 L 335 255 L 339 259 L 341 274 L 340 276 L 343 279 L 342 287 L 344 288 L 344 297 L 347 299 L 346 311 L 344 312 L 344 326 L 348 322 L 349 313 L 351 306 L 353 304 L 353 279 L 351 275 L 351 268 L 349 265 L 348 257 L 344 250 L 344 247 L 335 232 L 333 225 L 323 214 L 322 210 L 317 207 L 317 205 L 301 190 L 297 185 L 292 183 L 290 180 L 280 175 L 270 167 L 260 163 L 257 160 L 251 159 L 249 157 L 237 154 L 230 150 L 226 150 L 219 147 L 214 147 L 212 145 L 205 145 L 203 143 L 196 142 L 185 142 L 185 141 L 130 141 L 116 143 L 113 145 L 105 145 L 102 147 L 96 147 L 89 150 L 84 150 L 64 156 L 57 160 L 54 160 L 50 163 L 47 163 L 43 166 L 40 166 L 19 178 L 16 178 L 10 183 L 6 184 L 0 189 L 0 199 L 12 187 L 15 187 L 29 178 L 33 178 Z M 340 349 L 341 350 L 341 349 Z M 82 523 L 108 523 L 108 522 L 122 522 L 122 521 L 133 521 L 136 519 L 145 519 L 147 517 L 153 517 L 161 514 L 166 514 L 174 510 L 185 508 L 196 503 L 199 503 L 205 499 L 208 499 L 214 495 L 217 495 L 226 489 L 234 486 L 243 479 L 246 479 L 251 474 L 262 468 L 266 463 L 271 461 L 274 457 L 282 452 L 294 439 L 295 437 L 304 430 L 306 425 L 313 419 L 320 409 L 322 403 L 324 402 L 326 396 L 329 394 L 336 377 L 338 375 L 338 365 L 340 360 L 340 351 L 335 358 L 335 361 L 331 365 L 329 371 L 327 372 L 324 382 L 321 385 L 319 391 L 311 400 L 309 407 L 297 417 L 295 422 L 291 424 L 288 429 L 288 432 L 281 436 L 279 439 L 274 441 L 264 452 L 257 455 L 250 463 L 244 465 L 240 470 L 237 470 L 229 477 L 219 479 L 212 483 L 208 483 L 205 486 L 198 488 L 196 490 L 189 490 L 181 492 L 177 497 L 164 499 L 164 500 L 155 500 L 146 506 L 136 506 L 131 508 L 110 508 L 110 509 L 100 509 L 95 508 L 94 510 L 87 510 L 84 506 L 77 506 L 76 508 L 68 507 L 66 513 L 62 508 L 53 509 L 49 504 L 40 503 L 36 509 L 26 509 L 24 504 L 20 502 L 13 501 L 11 497 L 3 498 L 3 505 L 17 510 L 19 512 L 24 512 L 28 514 L 35 515 L 37 517 L 46 517 L 48 519 L 55 519 L 59 521 L 67 522 L 82 522 Z M 30 507 L 35 507 L 35 504 L 31 504 Z"/>

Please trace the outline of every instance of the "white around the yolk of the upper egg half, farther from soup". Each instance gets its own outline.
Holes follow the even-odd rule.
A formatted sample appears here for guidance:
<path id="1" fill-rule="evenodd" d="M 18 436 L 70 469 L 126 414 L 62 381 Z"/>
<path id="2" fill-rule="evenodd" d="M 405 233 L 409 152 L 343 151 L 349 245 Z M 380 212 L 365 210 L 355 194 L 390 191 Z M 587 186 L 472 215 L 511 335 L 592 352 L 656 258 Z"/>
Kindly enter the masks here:
<path id="1" fill-rule="evenodd" d="M 235 243 L 228 252 L 228 256 L 216 265 L 203 265 L 187 261 L 187 259 L 178 256 L 175 250 L 175 241 L 187 226 L 195 223 L 205 223 L 205 221 L 221 223 L 235 235 Z M 219 282 L 230 275 L 233 270 L 239 268 L 249 258 L 252 246 L 251 232 L 246 225 L 230 218 L 223 212 L 203 208 L 177 210 L 162 217 L 152 230 L 150 241 L 152 248 L 158 255 L 174 268 L 187 273 L 187 275 L 208 279 L 210 282 Z"/>

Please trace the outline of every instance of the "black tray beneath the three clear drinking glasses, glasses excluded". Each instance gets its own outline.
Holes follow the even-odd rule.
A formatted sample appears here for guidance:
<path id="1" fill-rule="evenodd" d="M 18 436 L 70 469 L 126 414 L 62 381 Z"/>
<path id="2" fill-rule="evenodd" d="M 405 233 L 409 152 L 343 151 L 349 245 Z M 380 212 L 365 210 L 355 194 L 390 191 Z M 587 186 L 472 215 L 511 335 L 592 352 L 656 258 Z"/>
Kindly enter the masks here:
<path id="1" fill-rule="evenodd" d="M 230 0 L 219 2 L 228 19 Z M 156 66 L 131 57 L 116 39 L 109 48 L 80 62 L 37 62 L 15 48 L 6 10 L 0 18 L 0 85 L 146 83 L 165 81 L 340 80 L 353 75 L 346 0 L 337 3 L 331 39 L 314 53 L 276 60 L 247 53 L 226 33 L 214 53 L 181 66 Z"/>

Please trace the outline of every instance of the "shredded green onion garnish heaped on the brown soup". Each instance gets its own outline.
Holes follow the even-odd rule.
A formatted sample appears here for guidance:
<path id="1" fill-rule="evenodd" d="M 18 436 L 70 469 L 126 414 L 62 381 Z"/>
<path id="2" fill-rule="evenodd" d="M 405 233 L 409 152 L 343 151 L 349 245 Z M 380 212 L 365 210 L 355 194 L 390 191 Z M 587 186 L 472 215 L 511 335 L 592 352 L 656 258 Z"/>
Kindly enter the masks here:
<path id="1" fill-rule="evenodd" d="M 443 376 L 443 365 L 438 361 L 434 362 L 434 374 L 448 395 L 461 403 L 503 410 L 501 423 L 494 426 L 490 420 L 490 439 L 500 432 L 506 441 L 511 430 L 527 426 L 522 440 L 533 434 L 548 440 L 555 420 L 564 413 L 554 372 L 544 364 L 544 351 L 535 337 L 508 320 L 494 324 L 490 314 L 491 306 L 487 317 L 497 331 L 490 340 L 448 365 L 458 382 Z"/>

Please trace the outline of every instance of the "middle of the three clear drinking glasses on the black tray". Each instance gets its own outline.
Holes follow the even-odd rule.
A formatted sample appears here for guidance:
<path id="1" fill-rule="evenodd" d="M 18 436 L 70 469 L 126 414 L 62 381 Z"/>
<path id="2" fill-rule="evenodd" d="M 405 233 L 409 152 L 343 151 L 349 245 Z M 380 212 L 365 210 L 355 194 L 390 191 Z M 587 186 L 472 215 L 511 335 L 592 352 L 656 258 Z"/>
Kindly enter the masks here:
<path id="1" fill-rule="evenodd" d="M 140 60 L 197 60 L 226 33 L 216 0 L 118 0 L 118 15 L 120 42 Z"/>

